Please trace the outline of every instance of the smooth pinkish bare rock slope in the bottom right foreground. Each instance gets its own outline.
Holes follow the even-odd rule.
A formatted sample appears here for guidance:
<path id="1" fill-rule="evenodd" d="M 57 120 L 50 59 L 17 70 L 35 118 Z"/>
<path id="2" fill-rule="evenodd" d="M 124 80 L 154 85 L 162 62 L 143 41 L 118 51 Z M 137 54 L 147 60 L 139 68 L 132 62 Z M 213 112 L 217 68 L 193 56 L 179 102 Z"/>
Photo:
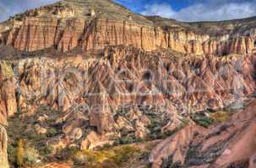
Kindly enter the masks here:
<path id="1" fill-rule="evenodd" d="M 150 154 L 152 167 L 253 167 L 255 104 L 215 128 L 190 125 L 163 140 Z"/>

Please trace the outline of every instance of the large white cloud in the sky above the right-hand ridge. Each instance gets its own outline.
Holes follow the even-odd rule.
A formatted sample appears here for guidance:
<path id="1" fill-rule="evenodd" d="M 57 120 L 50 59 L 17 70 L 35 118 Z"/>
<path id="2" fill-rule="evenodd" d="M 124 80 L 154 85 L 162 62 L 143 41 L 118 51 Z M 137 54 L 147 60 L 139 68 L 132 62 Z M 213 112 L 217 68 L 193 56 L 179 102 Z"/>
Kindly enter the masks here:
<path id="1" fill-rule="evenodd" d="M 256 15 L 256 1 L 204 1 L 195 3 L 187 8 L 174 11 L 166 3 L 147 5 L 142 14 L 160 15 L 166 18 L 176 18 L 182 21 L 226 20 L 234 18 L 247 18 Z"/>

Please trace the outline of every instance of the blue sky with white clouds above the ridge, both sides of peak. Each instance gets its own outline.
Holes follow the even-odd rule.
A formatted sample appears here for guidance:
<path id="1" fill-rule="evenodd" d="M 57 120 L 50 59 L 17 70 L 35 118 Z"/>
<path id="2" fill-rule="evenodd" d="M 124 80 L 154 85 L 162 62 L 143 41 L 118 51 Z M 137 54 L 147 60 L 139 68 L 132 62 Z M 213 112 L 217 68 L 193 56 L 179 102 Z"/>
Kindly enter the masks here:
<path id="1" fill-rule="evenodd" d="M 256 0 L 115 0 L 135 13 L 182 21 L 224 20 L 256 16 Z M 57 0 L 0 0 L 0 21 L 28 8 Z"/>

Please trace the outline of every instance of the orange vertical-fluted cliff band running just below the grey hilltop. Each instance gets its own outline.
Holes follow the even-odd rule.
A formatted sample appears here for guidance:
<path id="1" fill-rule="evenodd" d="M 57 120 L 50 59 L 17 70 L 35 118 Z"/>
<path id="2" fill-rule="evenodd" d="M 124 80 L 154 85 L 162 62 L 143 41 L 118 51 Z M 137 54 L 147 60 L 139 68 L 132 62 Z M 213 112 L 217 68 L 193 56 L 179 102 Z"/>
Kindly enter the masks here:
<path id="1" fill-rule="evenodd" d="M 143 50 L 172 49 L 186 54 L 245 54 L 253 50 L 252 37 L 215 40 L 191 30 L 166 31 L 128 21 L 26 17 L 19 28 L 11 29 L 6 45 L 19 50 L 55 47 L 63 52 L 81 47 L 96 52 L 107 45 L 133 45 Z"/>

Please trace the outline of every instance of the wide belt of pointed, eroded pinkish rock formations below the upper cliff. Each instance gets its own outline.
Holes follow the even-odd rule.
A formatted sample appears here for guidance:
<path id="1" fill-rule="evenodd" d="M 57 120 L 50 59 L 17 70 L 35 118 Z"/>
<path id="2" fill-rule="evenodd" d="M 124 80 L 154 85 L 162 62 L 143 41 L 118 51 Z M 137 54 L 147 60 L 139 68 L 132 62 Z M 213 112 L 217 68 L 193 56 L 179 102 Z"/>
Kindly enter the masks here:
<path id="1" fill-rule="evenodd" d="M 65 112 L 57 123 L 63 124 L 61 139 L 70 143 L 90 129 L 100 136 L 128 130 L 128 136 L 143 139 L 150 134 L 150 112 L 155 110 L 160 112 L 157 121 L 165 123 L 161 132 L 172 131 L 182 124 L 181 116 L 224 108 L 255 88 L 253 54 L 174 58 L 167 50 L 116 46 L 98 56 L 100 60 L 74 56 L 11 61 L 18 73 L 7 80 L 8 86 L 17 82 L 3 87 L 8 92 L 3 100 L 14 107 L 18 100 L 18 108 L 30 115 L 40 105 Z M 14 112 L 10 109 L 8 113 Z"/>

